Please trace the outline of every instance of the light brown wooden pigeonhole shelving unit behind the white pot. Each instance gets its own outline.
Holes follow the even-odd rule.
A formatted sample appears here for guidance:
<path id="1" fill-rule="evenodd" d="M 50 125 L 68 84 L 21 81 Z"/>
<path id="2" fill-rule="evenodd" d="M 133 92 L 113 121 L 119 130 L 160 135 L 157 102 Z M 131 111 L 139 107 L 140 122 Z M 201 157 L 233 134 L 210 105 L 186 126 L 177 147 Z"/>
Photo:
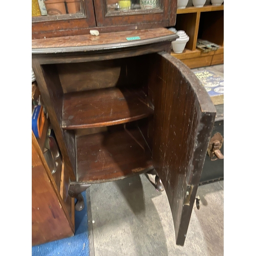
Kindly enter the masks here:
<path id="1" fill-rule="evenodd" d="M 177 9 L 175 28 L 184 30 L 189 41 L 183 53 L 172 51 L 171 55 L 182 60 L 189 68 L 224 63 L 224 5 Z M 220 45 L 220 49 L 203 53 L 197 49 L 198 38 L 214 42 Z"/>

